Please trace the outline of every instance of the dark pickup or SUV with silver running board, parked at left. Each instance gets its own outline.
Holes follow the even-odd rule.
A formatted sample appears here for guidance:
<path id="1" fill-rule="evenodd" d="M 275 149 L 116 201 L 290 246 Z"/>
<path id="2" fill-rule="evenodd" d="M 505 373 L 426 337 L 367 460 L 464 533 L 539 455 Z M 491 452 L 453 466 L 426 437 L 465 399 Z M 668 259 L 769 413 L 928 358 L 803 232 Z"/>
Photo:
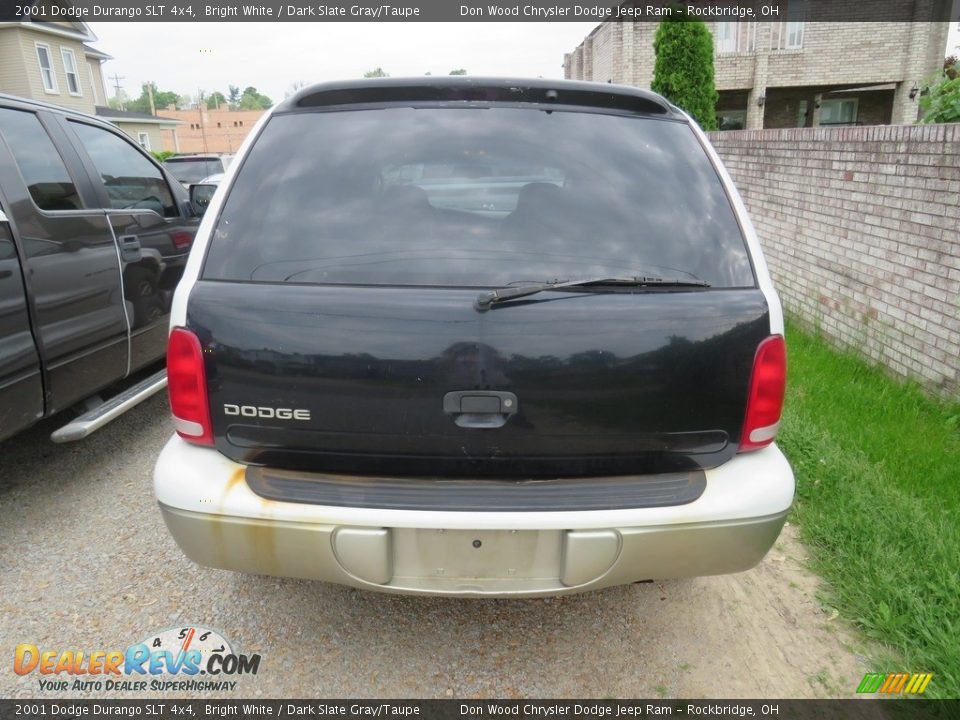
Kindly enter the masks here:
<path id="1" fill-rule="evenodd" d="M 160 371 L 99 397 L 163 359 L 196 225 L 180 184 L 113 125 L 0 95 L 0 439 L 84 403 L 54 434 L 77 439 L 163 388 Z"/>

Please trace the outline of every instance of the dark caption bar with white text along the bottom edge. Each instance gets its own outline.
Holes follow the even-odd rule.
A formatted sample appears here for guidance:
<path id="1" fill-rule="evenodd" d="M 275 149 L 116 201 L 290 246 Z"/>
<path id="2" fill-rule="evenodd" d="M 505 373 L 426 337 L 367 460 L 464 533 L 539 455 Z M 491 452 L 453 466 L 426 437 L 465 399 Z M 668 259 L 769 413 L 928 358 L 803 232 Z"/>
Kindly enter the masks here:
<path id="1" fill-rule="evenodd" d="M 2 720 L 43 718 L 774 718 L 939 720 L 956 700 L 0 700 Z"/>

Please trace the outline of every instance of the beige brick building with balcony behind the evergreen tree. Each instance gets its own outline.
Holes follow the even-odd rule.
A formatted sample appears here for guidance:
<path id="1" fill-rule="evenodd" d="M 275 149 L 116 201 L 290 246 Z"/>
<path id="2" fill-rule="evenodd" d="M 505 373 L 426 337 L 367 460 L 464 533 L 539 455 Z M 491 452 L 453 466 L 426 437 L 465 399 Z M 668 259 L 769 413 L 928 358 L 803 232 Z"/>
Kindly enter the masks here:
<path id="1" fill-rule="evenodd" d="M 931 0 L 917 0 L 923 15 Z M 650 87 L 658 23 L 598 25 L 564 76 Z M 710 22 L 721 129 L 910 124 L 943 63 L 949 23 Z"/>

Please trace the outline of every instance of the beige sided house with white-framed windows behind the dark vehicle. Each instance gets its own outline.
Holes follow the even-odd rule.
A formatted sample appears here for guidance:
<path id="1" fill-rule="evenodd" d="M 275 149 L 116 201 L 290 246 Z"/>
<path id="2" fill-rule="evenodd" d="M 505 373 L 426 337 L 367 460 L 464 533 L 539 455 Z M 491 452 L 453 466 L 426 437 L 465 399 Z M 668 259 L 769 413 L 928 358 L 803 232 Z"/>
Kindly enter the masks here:
<path id="1" fill-rule="evenodd" d="M 87 44 L 96 40 L 82 22 L 0 22 L 0 92 L 98 115 L 159 150 L 179 121 L 107 107 L 102 66 L 112 58 Z"/>

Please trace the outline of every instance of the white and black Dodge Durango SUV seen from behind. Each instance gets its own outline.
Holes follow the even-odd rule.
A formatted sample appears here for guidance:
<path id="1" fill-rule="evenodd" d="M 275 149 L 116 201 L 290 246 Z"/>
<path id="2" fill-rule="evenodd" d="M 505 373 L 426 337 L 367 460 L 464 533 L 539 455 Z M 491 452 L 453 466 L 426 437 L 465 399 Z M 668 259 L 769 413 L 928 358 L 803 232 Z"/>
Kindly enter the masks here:
<path id="1" fill-rule="evenodd" d="M 301 90 L 206 211 L 167 360 L 157 497 L 212 567 L 579 592 L 750 568 L 793 499 L 756 235 L 636 88 Z"/>

